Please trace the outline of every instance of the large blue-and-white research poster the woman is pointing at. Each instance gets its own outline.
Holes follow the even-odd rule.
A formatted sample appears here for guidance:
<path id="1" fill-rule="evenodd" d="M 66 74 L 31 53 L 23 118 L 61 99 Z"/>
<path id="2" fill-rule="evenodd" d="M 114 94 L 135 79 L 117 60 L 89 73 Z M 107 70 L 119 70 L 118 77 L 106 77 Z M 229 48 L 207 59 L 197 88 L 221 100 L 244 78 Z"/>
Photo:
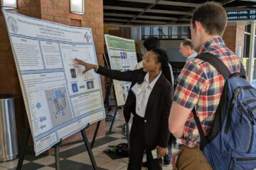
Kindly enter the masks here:
<path id="1" fill-rule="evenodd" d="M 3 10 L 36 155 L 88 123 L 105 118 L 90 28 L 65 26 Z"/>

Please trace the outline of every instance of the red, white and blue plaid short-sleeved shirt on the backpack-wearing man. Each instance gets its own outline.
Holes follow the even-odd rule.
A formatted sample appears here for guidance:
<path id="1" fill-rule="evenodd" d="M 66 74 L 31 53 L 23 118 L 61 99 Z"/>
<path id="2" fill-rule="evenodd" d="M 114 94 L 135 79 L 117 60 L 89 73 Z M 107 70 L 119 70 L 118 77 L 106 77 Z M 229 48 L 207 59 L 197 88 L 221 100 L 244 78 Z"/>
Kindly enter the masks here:
<path id="1" fill-rule="evenodd" d="M 219 57 L 230 72 L 240 71 L 237 55 L 228 49 L 220 37 L 206 42 L 199 54 L 201 52 L 210 52 Z M 225 79 L 215 67 L 200 59 L 189 60 L 178 77 L 174 101 L 185 108 L 196 107 L 196 113 L 206 136 L 210 132 L 224 84 Z M 176 114 L 182 113 L 177 111 Z M 199 132 L 192 112 L 186 121 L 182 142 L 188 147 L 196 147 L 200 144 Z"/>

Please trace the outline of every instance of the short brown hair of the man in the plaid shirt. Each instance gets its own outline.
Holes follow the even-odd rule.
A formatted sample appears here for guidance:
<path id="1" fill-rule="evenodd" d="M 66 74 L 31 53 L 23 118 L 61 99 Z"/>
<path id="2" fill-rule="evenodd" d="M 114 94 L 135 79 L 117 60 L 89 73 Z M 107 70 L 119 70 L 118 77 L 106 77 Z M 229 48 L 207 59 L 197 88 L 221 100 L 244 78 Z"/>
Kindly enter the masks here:
<path id="1" fill-rule="evenodd" d="M 193 11 L 191 23 L 193 28 L 196 26 L 196 21 L 199 21 L 206 33 L 209 35 L 223 35 L 228 22 L 227 12 L 225 8 L 217 2 L 206 2 L 198 6 Z"/>

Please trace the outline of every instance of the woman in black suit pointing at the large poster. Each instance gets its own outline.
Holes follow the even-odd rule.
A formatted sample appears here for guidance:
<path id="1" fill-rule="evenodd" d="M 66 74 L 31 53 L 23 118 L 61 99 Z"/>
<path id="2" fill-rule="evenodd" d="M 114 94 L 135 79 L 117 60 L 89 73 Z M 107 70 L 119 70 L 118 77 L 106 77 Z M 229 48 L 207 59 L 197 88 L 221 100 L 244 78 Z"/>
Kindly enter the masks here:
<path id="1" fill-rule="evenodd" d="M 129 136 L 129 170 L 142 169 L 142 159 L 146 150 L 149 170 L 162 169 L 162 157 L 167 153 L 169 141 L 168 118 L 171 110 L 173 87 L 168 55 L 164 50 L 155 48 L 146 52 L 143 68 L 119 72 L 95 64 L 75 59 L 77 64 L 85 66 L 82 73 L 90 69 L 105 77 L 119 81 L 132 81 L 124 105 L 124 119 L 129 122 L 134 117 Z M 151 151 L 157 158 L 154 159 Z"/>

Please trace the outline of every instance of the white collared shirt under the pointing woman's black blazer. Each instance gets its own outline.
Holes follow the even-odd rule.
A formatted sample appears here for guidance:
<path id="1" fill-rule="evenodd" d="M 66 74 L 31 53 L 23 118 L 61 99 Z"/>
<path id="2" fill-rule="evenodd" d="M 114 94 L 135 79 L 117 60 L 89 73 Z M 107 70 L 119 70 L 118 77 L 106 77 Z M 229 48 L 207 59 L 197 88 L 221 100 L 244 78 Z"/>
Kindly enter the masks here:
<path id="1" fill-rule="evenodd" d="M 154 85 L 156 84 L 156 81 L 159 79 L 160 76 L 161 72 L 149 84 L 149 72 L 147 72 L 146 76 L 144 77 L 144 81 L 142 82 L 142 84 L 140 84 L 140 88 L 142 89 L 142 91 L 136 96 L 136 113 L 142 118 L 144 118 L 145 116 L 146 105 L 149 101 L 151 91 L 154 88 Z"/>

